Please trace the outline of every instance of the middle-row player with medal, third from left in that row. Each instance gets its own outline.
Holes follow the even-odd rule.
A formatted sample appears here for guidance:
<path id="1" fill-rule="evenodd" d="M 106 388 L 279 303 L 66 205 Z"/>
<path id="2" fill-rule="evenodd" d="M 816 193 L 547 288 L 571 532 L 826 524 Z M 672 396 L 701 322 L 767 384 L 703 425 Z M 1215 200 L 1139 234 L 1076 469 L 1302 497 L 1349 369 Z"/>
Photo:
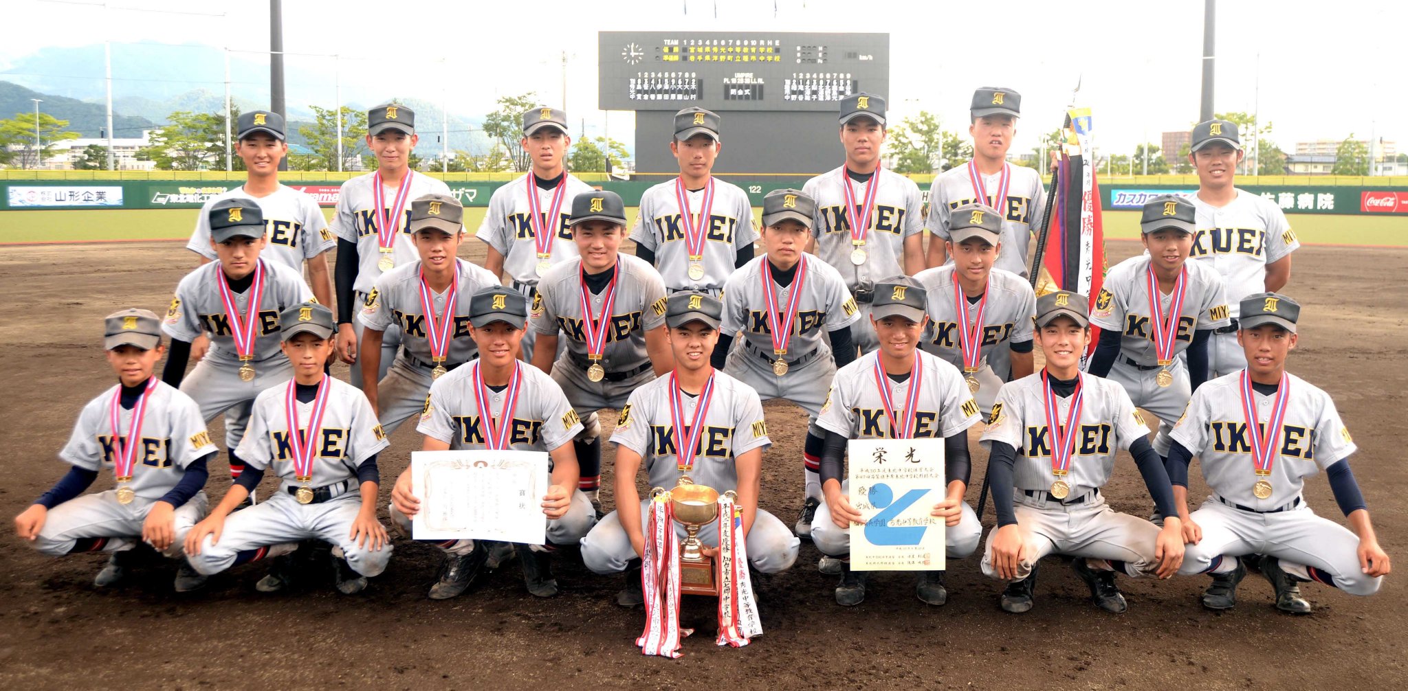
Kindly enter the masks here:
<path id="1" fill-rule="evenodd" d="M 572 200 L 576 259 L 543 274 L 532 305 L 538 349 L 532 364 L 552 374 L 582 417 L 582 490 L 597 502 L 601 425 L 596 412 L 621 410 L 631 391 L 674 367 L 665 338 L 665 280 L 643 259 L 621 255 L 625 205 L 614 191 Z M 558 335 L 567 339 L 556 357 Z"/>

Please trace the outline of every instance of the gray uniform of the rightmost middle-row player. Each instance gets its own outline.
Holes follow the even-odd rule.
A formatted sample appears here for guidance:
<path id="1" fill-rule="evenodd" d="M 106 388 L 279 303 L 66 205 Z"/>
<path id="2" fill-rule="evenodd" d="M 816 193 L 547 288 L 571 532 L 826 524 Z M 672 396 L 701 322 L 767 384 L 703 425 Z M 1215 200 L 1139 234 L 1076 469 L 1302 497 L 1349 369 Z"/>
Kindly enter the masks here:
<path id="1" fill-rule="evenodd" d="M 1178 315 L 1178 331 L 1173 341 L 1173 384 L 1160 387 L 1156 381 L 1159 356 L 1155 349 L 1155 324 L 1149 310 L 1149 256 L 1132 256 L 1119 262 L 1105 276 L 1105 284 L 1095 296 L 1095 307 L 1090 311 L 1090 322 L 1095 327 L 1122 334 L 1119 355 L 1110 367 L 1108 379 L 1125 387 L 1135 405 L 1153 412 L 1159 418 L 1159 433 L 1153 449 L 1160 456 L 1169 455 L 1169 432 L 1178 421 L 1183 408 L 1193 395 L 1188 369 L 1178 353 L 1193 343 L 1193 332 L 1215 329 L 1231 324 L 1228 321 L 1226 291 L 1222 276 L 1202 262 L 1184 262 L 1187 273 L 1183 280 L 1183 314 Z M 1171 310 L 1173 294 L 1159 294 L 1159 310 Z M 1211 348 L 1211 343 L 1209 343 Z"/>

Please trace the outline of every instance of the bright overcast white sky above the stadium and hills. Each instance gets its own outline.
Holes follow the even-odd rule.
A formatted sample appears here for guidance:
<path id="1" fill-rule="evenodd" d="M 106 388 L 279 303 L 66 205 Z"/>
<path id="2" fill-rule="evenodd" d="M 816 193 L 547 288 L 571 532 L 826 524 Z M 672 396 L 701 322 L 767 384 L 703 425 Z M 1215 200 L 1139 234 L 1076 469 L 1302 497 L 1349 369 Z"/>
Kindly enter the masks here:
<path id="1" fill-rule="evenodd" d="M 41 48 L 104 38 L 242 51 L 269 46 L 262 0 L 114 0 L 108 10 L 83 1 L 7 0 L 0 79 L 10 62 Z M 1014 152 L 1028 151 L 1039 132 L 1060 124 L 1077 77 L 1083 79 L 1077 104 L 1094 108 L 1105 151 L 1131 151 L 1145 132 L 1157 144 L 1159 132 L 1188 128 L 1198 115 L 1202 6 L 1201 0 L 777 0 L 774 15 L 772 0 L 283 3 L 287 51 L 341 53 L 346 58 L 344 83 L 380 82 L 389 84 L 387 93 L 445 97 L 462 114 L 487 113 L 498 96 L 527 90 L 560 100 L 566 51 L 569 115 L 594 124 L 605 120 L 597 110 L 597 31 L 888 32 L 891 93 L 886 96 L 893 118 L 922 108 L 964 129 L 972 90 L 1008 86 L 1022 93 L 1024 120 Z M 1221 0 L 1217 110 L 1252 111 L 1260 73 L 1260 117 L 1274 122 L 1271 138 L 1283 149 L 1293 151 L 1297 141 L 1340 139 L 1350 132 L 1363 138 L 1374 131 L 1397 139 L 1404 151 L 1405 7 L 1364 0 Z M 172 59 L 180 59 L 180 51 L 172 48 Z M 332 72 L 329 58 L 290 56 L 289 101 L 331 103 Z M 214 79 L 208 89 L 220 91 L 220 76 Z M 631 114 L 612 111 L 608 122 L 612 137 L 628 139 Z"/>

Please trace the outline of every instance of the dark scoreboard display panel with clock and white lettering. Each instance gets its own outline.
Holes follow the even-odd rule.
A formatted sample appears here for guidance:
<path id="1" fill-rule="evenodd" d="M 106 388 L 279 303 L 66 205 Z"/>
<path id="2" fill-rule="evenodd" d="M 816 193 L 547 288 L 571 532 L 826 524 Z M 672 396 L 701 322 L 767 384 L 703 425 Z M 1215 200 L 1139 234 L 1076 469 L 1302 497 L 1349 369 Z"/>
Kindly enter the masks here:
<path id="1" fill-rule="evenodd" d="M 603 31 L 603 110 L 829 111 L 890 90 L 888 34 Z"/>

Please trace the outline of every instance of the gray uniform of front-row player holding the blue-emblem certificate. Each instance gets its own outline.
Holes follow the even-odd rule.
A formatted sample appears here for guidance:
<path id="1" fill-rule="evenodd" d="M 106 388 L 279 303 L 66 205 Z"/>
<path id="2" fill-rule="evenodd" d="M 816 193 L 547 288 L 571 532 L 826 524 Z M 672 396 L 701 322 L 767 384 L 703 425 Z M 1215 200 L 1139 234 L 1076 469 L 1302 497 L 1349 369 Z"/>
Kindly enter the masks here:
<path id="1" fill-rule="evenodd" d="M 919 400 L 915 402 L 914 438 L 945 438 L 956 435 L 981 419 L 977 412 L 977 401 L 969 393 L 963 376 L 952 364 L 935 357 L 924 350 L 917 350 L 919 356 L 921 381 Z M 836 379 L 831 383 L 831 394 L 821 408 L 817 425 L 843 435 L 848 439 L 883 439 L 890 438 L 890 422 L 884 410 L 884 400 L 880 397 L 876 383 L 876 360 L 879 352 L 862 355 L 850 364 L 836 370 Z M 891 401 L 903 405 L 914 384 L 914 373 L 910 379 L 895 383 L 886 377 L 883 386 L 890 388 Z M 904 411 L 895 412 L 904 415 Z M 850 481 L 841 483 L 841 491 L 849 495 Z M 935 502 L 938 504 L 938 502 Z M 811 542 L 822 554 L 843 557 L 850 553 L 850 532 L 838 528 L 831 521 L 831 508 L 822 498 L 817 507 L 818 518 L 811 524 Z M 977 549 L 977 540 L 983 535 L 983 524 L 966 501 L 959 525 L 948 526 L 945 542 L 950 559 L 963 559 Z"/>

